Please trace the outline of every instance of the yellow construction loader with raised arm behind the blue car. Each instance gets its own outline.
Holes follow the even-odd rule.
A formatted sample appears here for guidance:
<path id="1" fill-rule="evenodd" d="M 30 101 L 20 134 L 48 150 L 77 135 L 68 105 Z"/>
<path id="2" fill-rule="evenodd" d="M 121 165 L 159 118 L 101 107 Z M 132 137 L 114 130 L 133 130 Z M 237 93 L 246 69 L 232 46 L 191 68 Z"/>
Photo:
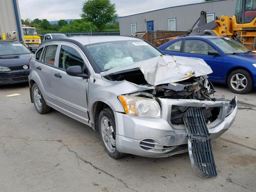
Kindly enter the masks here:
<path id="1" fill-rule="evenodd" d="M 197 23 L 198 27 L 193 29 Z M 186 32 L 186 36 L 195 35 L 227 36 L 256 50 L 256 0 L 237 0 L 232 18 L 223 15 L 209 23 L 206 12 L 202 11 L 200 18 Z"/>

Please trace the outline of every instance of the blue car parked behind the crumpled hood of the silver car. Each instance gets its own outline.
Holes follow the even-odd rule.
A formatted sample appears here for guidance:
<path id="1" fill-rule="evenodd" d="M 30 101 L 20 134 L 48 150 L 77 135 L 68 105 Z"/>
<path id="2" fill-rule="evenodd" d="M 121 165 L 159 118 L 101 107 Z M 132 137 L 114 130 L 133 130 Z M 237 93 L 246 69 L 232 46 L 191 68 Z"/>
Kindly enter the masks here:
<path id="1" fill-rule="evenodd" d="M 256 53 L 239 42 L 221 36 L 188 36 L 158 47 L 169 55 L 203 59 L 213 73 L 212 82 L 226 83 L 237 94 L 246 94 L 256 86 Z"/>

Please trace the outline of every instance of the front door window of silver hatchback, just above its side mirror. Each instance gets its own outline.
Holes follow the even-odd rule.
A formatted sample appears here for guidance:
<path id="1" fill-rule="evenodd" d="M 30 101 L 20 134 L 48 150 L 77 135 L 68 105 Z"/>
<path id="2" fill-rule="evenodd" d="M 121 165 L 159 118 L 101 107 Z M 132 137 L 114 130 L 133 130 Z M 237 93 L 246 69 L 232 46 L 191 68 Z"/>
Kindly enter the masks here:
<path id="1" fill-rule="evenodd" d="M 66 70 L 68 67 L 76 65 L 84 67 L 84 61 L 80 54 L 72 47 L 61 46 L 59 68 Z"/>

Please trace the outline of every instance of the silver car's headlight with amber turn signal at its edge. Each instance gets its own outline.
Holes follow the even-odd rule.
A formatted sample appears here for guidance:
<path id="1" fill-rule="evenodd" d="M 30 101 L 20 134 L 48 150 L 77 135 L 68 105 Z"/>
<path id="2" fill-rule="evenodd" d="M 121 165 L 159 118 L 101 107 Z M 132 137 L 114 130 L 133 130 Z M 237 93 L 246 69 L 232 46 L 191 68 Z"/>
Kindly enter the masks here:
<path id="1" fill-rule="evenodd" d="M 161 117 L 161 108 L 154 99 L 136 96 L 118 96 L 126 114 L 143 117 Z"/>

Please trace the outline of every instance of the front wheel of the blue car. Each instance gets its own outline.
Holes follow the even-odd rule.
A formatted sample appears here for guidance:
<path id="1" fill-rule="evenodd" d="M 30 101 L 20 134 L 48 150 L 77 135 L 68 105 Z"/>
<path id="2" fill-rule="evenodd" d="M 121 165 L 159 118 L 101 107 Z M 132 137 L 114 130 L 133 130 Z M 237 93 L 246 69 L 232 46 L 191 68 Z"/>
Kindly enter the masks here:
<path id="1" fill-rule="evenodd" d="M 253 88 L 253 80 L 249 72 L 243 69 L 232 71 L 228 76 L 228 88 L 237 94 L 249 93 Z"/>

